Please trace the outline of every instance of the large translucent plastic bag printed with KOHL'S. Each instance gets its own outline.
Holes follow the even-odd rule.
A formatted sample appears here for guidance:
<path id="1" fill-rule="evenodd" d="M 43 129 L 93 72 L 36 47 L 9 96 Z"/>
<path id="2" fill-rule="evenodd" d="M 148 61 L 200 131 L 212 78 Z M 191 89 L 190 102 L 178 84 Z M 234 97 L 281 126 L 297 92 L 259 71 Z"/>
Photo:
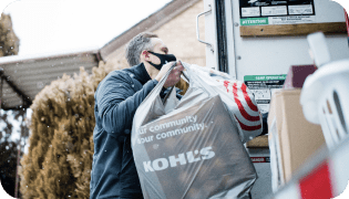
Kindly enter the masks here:
<path id="1" fill-rule="evenodd" d="M 219 94 L 184 66 L 189 88 L 183 98 L 177 104 L 160 98 L 167 73 L 133 119 L 132 149 L 143 196 L 249 198 L 257 175 L 238 127 Z"/>

